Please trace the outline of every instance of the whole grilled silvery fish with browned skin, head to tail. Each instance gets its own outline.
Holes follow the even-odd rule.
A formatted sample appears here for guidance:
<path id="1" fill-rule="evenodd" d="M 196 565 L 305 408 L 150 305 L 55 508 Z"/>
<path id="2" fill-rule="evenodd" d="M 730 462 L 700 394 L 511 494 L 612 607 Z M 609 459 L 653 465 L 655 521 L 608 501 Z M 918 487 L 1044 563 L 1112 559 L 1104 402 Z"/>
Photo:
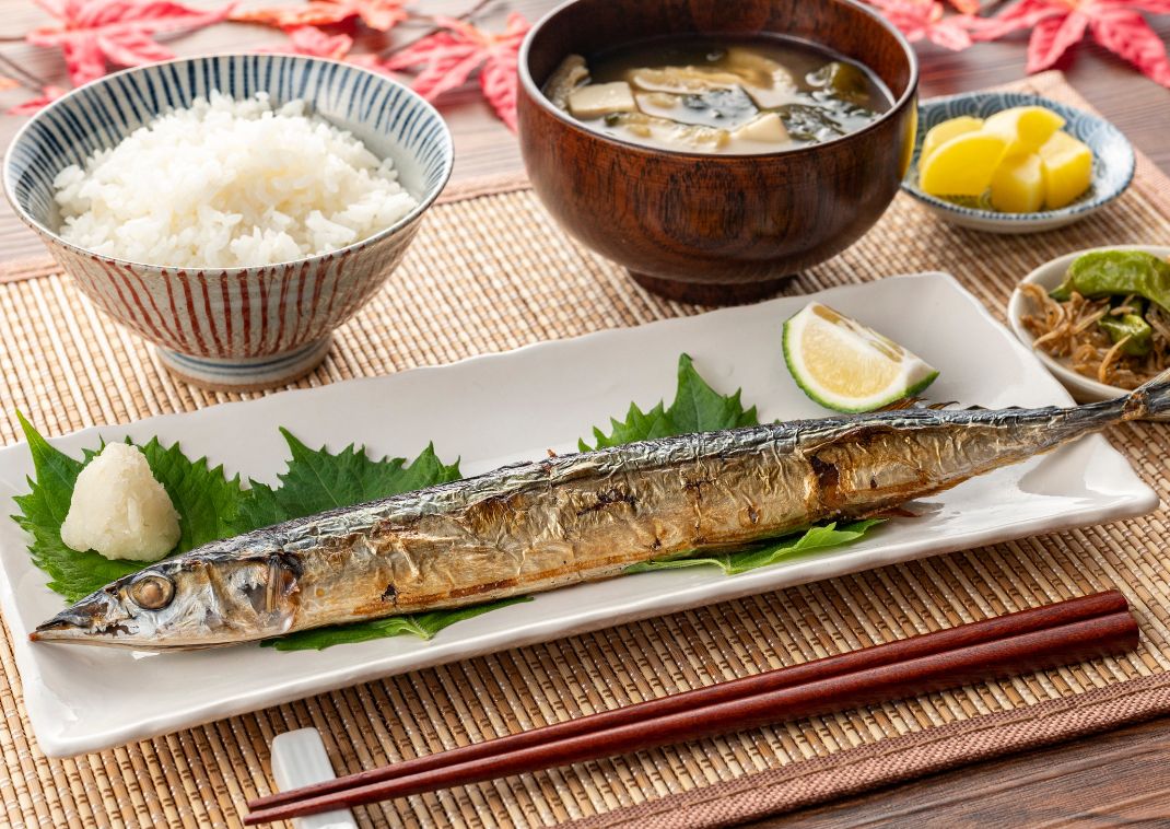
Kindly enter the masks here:
<path id="1" fill-rule="evenodd" d="M 207 544 L 109 584 L 32 637 L 211 648 L 551 590 L 880 513 L 1166 410 L 1163 375 L 1069 409 L 878 412 L 517 464 Z"/>

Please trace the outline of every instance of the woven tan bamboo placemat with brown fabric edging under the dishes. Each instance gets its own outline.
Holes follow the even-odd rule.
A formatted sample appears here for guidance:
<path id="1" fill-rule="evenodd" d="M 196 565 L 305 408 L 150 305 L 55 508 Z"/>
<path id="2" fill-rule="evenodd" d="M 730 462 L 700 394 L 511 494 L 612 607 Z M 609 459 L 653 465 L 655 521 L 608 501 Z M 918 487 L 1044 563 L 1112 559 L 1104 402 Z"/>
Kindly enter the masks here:
<path id="1" fill-rule="evenodd" d="M 1017 88 L 1086 107 L 1058 74 Z M 1047 259 L 1168 238 L 1170 180 L 1141 158 L 1123 198 L 1039 235 L 965 232 L 900 196 L 868 235 L 789 292 L 944 269 L 1002 313 L 1014 282 Z M 433 210 L 388 287 L 300 385 L 697 310 L 646 294 L 569 241 L 523 183 L 481 184 Z M 236 397 L 172 379 L 147 345 L 50 265 L 0 275 L 4 443 L 16 439 L 15 409 L 57 434 Z M 1130 424 L 1109 437 L 1170 492 L 1166 426 Z M 0 823 L 235 825 L 243 801 L 268 792 L 268 744 L 287 729 L 317 726 L 338 770 L 357 770 L 1095 590 L 1116 587 L 1129 597 L 1143 640 L 1123 658 L 414 796 L 360 816 L 371 825 L 590 817 L 693 825 L 792 808 L 1170 710 L 1165 535 L 1159 511 L 504 651 L 70 760 L 49 760 L 33 742 L 4 638 Z M 763 774 L 745 779 L 753 773 Z M 716 786 L 729 780 L 730 788 Z M 736 796 L 744 790 L 755 794 Z M 687 794 L 680 802 L 672 793 Z"/>

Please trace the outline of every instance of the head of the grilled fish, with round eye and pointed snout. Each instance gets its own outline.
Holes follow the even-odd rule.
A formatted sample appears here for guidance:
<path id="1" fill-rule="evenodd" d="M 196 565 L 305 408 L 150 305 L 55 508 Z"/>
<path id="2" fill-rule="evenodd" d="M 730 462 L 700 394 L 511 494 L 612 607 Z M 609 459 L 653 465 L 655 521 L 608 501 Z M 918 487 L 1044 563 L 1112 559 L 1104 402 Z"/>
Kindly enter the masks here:
<path id="1" fill-rule="evenodd" d="M 111 582 L 36 626 L 36 642 L 197 649 L 281 636 L 298 607 L 283 554 L 163 561 Z"/>

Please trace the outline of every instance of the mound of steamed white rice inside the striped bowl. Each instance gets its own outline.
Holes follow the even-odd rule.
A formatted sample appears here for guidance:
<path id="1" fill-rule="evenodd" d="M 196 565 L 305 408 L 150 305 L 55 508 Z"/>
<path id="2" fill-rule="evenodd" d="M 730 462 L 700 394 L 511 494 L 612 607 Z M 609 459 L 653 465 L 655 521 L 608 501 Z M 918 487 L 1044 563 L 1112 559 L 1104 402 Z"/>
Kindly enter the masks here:
<path id="1" fill-rule="evenodd" d="M 352 245 L 418 204 L 390 159 L 304 112 L 213 91 L 156 118 L 57 174 L 61 237 L 151 265 L 270 265 Z"/>

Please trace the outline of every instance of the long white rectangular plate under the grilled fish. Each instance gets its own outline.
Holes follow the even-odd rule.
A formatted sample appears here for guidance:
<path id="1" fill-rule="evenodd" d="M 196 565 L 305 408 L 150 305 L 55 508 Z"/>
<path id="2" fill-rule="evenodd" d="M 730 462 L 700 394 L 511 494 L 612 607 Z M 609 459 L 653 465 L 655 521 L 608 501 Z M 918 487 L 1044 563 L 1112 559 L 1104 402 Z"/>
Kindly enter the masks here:
<path id="1" fill-rule="evenodd" d="M 570 452 L 631 400 L 674 395 L 680 352 L 723 392 L 743 388 L 762 420 L 824 417 L 784 368 L 780 326 L 810 297 L 787 297 L 640 328 L 541 343 L 510 354 L 390 377 L 271 395 L 56 440 L 67 452 L 130 436 L 179 440 L 229 474 L 271 482 L 287 450 L 277 426 L 311 446 L 364 443 L 413 457 L 434 440 L 466 474 Z M 1068 404 L 1040 363 L 945 274 L 834 288 L 818 299 L 894 335 L 937 366 L 941 400 L 991 407 Z M 33 472 L 23 445 L 0 451 L 0 515 Z M 356 683 L 777 588 L 978 544 L 1147 513 L 1155 493 L 1094 436 L 999 470 L 934 499 L 925 518 L 895 520 L 847 548 L 727 577 L 714 568 L 648 573 L 565 588 L 462 622 L 431 642 L 397 637 L 325 651 L 233 649 L 146 655 L 33 644 L 28 631 L 63 605 L 34 568 L 25 534 L 0 519 L 0 607 L 13 633 L 25 701 L 46 754 L 64 756 L 164 734 Z"/>

